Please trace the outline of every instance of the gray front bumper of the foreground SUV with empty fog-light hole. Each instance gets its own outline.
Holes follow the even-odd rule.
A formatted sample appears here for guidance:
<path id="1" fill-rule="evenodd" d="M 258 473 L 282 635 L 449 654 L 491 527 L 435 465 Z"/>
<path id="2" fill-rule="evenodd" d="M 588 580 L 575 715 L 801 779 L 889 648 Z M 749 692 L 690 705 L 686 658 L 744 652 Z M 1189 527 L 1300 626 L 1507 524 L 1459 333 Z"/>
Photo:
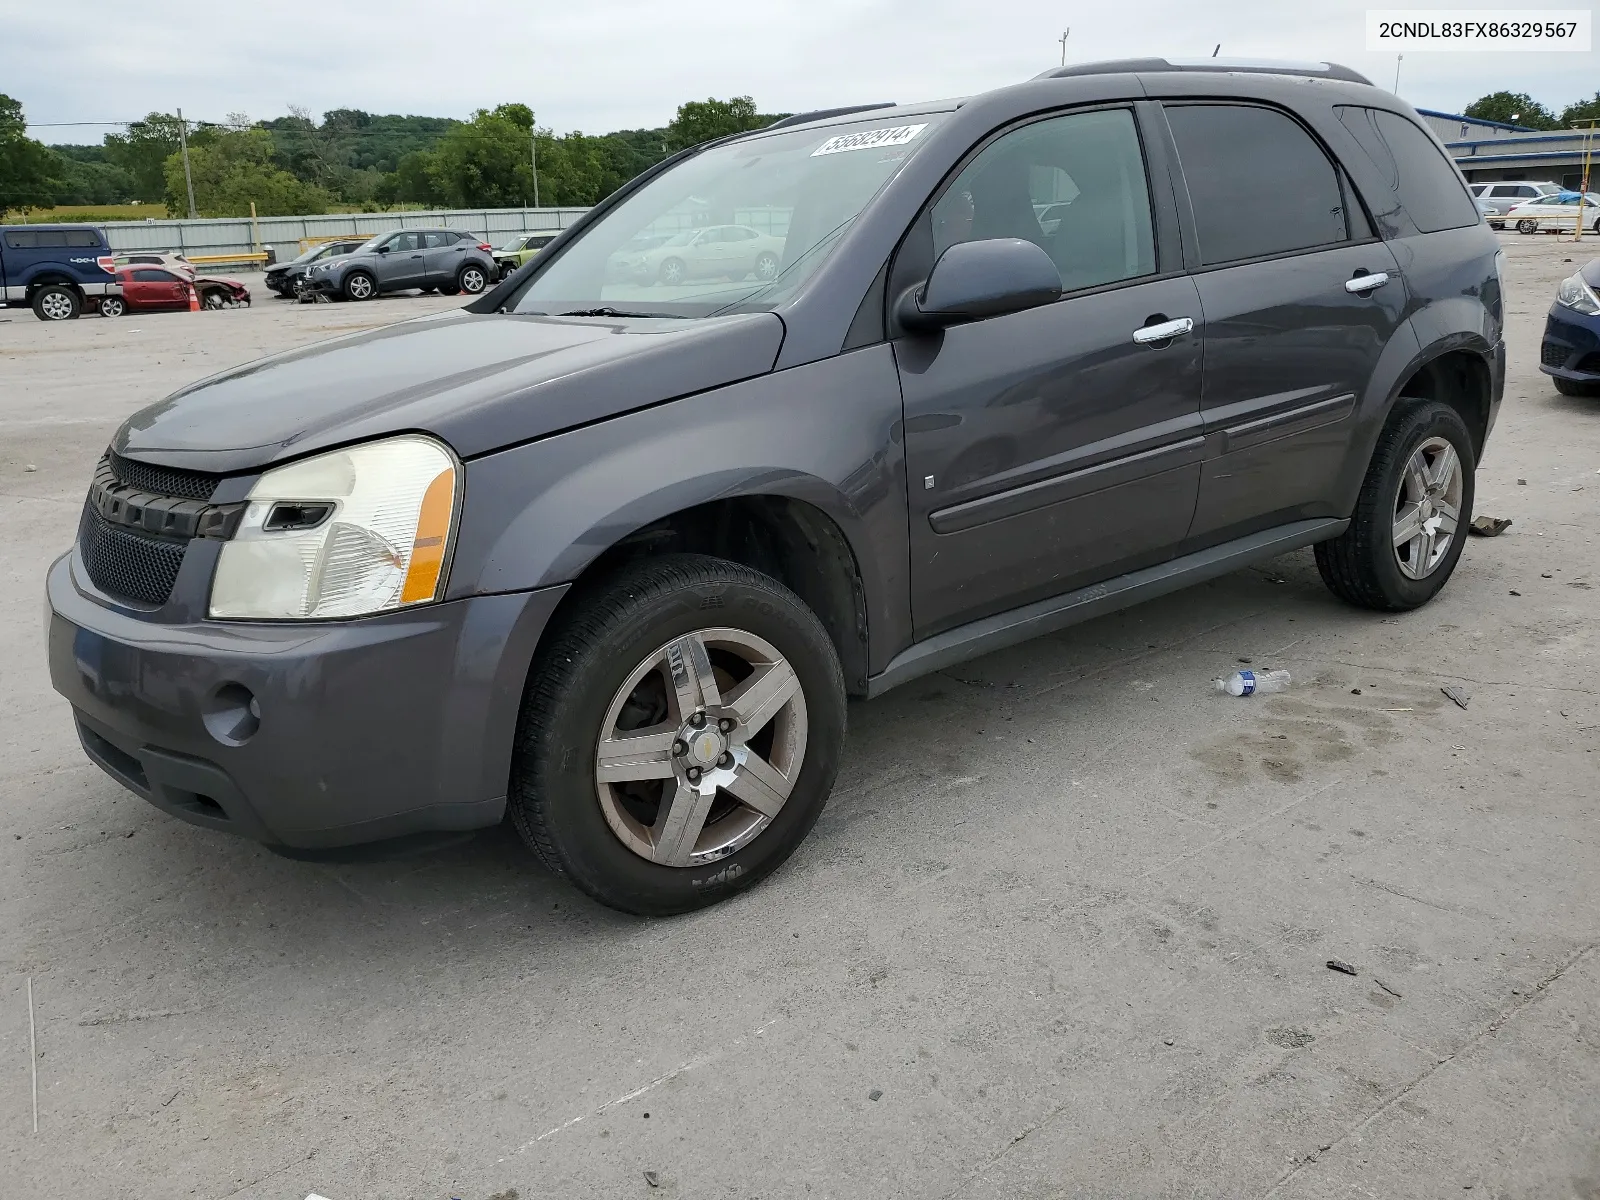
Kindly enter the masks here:
<path id="1" fill-rule="evenodd" d="M 46 579 L 50 675 L 88 757 L 190 824 L 283 850 L 478 829 L 506 810 L 533 648 L 565 587 L 344 622 L 160 622 L 77 552 Z"/>

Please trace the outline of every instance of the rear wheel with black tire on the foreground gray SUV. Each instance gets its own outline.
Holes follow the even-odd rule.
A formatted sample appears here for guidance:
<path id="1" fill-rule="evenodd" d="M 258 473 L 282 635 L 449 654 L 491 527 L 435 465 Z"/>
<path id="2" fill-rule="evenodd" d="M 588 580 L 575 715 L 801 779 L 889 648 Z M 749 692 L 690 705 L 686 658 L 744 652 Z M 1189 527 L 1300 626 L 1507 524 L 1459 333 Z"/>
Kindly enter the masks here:
<path id="1" fill-rule="evenodd" d="M 1454 453 L 1456 486 L 1437 496 L 1426 490 L 1426 504 L 1413 506 L 1410 501 L 1419 491 L 1418 482 L 1422 482 L 1410 472 L 1413 459 L 1424 456 L 1426 482 L 1434 483 L 1434 470 L 1443 461 L 1446 445 Z M 1435 450 L 1429 459 L 1430 446 Z M 1358 608 L 1381 613 L 1400 613 L 1432 600 L 1456 570 L 1466 546 L 1475 472 L 1477 454 L 1461 414 L 1437 400 L 1402 398 L 1378 435 L 1350 528 L 1317 546 L 1317 570 L 1328 590 Z M 1448 507 L 1435 510 L 1440 501 L 1448 501 L 1456 510 L 1454 528 L 1448 530 L 1450 541 L 1443 547 L 1437 534 L 1446 533 Z M 1426 541 L 1422 536 L 1430 522 L 1422 522 L 1414 539 L 1397 546 L 1403 536 L 1402 518 L 1418 514 L 1440 517 L 1442 522 L 1432 525 L 1434 534 L 1427 534 Z"/>

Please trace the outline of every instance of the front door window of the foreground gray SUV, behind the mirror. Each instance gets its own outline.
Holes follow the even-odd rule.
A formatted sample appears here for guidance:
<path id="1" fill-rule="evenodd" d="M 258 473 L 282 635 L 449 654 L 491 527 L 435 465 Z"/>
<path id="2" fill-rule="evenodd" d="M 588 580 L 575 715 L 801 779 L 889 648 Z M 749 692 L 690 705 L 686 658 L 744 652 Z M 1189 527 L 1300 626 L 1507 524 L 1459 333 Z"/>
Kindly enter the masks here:
<path id="1" fill-rule="evenodd" d="M 1155 274 L 1144 152 L 1126 109 L 1000 136 L 950 182 L 931 222 L 934 261 L 958 242 L 1019 237 L 1050 254 L 1062 291 Z"/>

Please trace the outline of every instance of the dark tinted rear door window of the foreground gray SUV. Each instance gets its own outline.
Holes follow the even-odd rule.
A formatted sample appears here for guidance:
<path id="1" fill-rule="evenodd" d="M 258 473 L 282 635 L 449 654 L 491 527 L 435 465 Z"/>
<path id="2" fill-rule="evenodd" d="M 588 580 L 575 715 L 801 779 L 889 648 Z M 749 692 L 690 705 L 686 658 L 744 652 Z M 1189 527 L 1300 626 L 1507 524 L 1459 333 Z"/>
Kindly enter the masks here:
<path id="1" fill-rule="evenodd" d="M 1200 240 L 1200 261 L 1291 254 L 1344 242 L 1339 176 L 1323 149 L 1274 109 L 1166 109 Z"/>

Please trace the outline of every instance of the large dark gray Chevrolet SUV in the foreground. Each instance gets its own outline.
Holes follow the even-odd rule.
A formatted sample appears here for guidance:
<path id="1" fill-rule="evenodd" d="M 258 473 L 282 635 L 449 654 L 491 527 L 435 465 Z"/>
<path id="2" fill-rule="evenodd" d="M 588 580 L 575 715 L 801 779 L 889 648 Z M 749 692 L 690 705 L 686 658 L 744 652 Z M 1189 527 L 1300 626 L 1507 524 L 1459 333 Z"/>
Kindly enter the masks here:
<path id="1" fill-rule="evenodd" d="M 757 218 L 770 278 L 614 269 Z M 1307 546 L 1352 605 L 1426 603 L 1501 288 L 1438 141 L 1342 67 L 790 117 L 464 310 L 133 416 L 50 568 L 51 677 L 197 826 L 328 854 L 509 816 L 605 904 L 694 909 L 805 838 L 846 696 Z"/>

